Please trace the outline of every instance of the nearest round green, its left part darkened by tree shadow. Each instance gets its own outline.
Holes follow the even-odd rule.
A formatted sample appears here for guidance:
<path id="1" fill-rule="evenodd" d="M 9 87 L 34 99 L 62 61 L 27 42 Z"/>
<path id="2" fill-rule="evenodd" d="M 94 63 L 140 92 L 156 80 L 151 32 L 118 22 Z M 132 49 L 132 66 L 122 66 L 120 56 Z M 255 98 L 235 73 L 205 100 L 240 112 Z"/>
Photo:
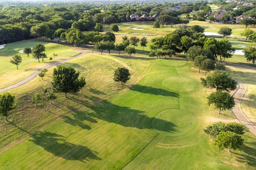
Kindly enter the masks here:
<path id="1" fill-rule="evenodd" d="M 157 114 L 151 126 L 165 135 L 181 135 L 187 132 L 194 123 L 194 115 L 184 114 L 184 110 L 181 109 L 167 109 Z"/>

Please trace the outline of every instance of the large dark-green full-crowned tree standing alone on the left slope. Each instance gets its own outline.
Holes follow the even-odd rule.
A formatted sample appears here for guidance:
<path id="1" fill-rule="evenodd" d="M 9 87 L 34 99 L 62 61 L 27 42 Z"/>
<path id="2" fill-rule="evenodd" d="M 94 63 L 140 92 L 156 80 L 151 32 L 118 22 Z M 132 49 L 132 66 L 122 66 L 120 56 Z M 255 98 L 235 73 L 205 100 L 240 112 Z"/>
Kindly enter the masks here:
<path id="1" fill-rule="evenodd" d="M 63 92 L 67 98 L 67 93 L 80 91 L 86 83 L 85 78 L 79 78 L 79 74 L 80 73 L 76 72 L 71 66 L 57 66 L 57 68 L 54 68 L 52 78 L 52 88 L 54 92 Z"/>

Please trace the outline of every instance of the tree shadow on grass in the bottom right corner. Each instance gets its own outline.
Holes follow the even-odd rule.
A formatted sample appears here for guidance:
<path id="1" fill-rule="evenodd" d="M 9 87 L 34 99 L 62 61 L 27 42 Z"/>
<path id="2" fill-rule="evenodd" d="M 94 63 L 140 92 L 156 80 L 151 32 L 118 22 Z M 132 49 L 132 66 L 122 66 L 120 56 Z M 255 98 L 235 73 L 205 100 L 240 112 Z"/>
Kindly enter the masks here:
<path id="1" fill-rule="evenodd" d="M 240 149 L 243 150 L 245 154 L 238 154 L 237 160 L 242 163 L 247 163 L 249 166 L 256 167 L 256 149 L 250 146 L 256 146 L 256 142 L 250 142 L 247 145 L 241 146 Z"/>

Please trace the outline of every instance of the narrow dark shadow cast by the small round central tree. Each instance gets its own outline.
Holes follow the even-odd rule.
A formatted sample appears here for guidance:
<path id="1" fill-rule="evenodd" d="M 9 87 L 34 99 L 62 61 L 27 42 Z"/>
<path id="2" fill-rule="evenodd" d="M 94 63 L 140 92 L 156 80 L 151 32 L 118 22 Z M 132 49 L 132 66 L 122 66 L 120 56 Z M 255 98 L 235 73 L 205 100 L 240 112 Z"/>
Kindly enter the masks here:
<path id="1" fill-rule="evenodd" d="M 146 94 L 151 94 L 151 95 L 162 95 L 162 96 L 171 96 L 171 97 L 179 97 L 179 94 L 166 91 L 162 88 L 154 88 L 154 87 L 149 87 L 149 86 L 141 86 L 139 84 L 134 85 L 130 87 L 130 90 L 132 91 L 138 91 L 140 93 L 146 93 Z"/>

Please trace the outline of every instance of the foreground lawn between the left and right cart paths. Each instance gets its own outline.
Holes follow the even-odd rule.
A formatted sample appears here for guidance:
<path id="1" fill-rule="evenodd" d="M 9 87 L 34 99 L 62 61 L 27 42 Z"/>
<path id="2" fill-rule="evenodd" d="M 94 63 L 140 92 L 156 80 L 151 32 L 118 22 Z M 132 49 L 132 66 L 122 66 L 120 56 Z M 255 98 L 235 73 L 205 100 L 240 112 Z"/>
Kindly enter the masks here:
<path id="1" fill-rule="evenodd" d="M 32 135 L 1 153 L 1 169 L 238 170 L 256 166 L 251 134 L 243 135 L 246 144 L 237 154 L 230 154 L 218 151 L 203 132 L 210 117 L 234 116 L 230 111 L 218 115 L 218 110 L 207 106 L 209 91 L 200 84 L 204 75 L 191 70 L 186 60 L 94 52 L 64 65 L 74 66 L 87 82 L 68 99 L 58 94 L 52 105 L 32 104 L 31 95 L 49 86 L 50 73 L 10 91 L 22 105 L 9 117 L 11 123 L 1 120 L 1 148 Z M 112 80 L 118 66 L 131 71 L 126 86 Z"/>

